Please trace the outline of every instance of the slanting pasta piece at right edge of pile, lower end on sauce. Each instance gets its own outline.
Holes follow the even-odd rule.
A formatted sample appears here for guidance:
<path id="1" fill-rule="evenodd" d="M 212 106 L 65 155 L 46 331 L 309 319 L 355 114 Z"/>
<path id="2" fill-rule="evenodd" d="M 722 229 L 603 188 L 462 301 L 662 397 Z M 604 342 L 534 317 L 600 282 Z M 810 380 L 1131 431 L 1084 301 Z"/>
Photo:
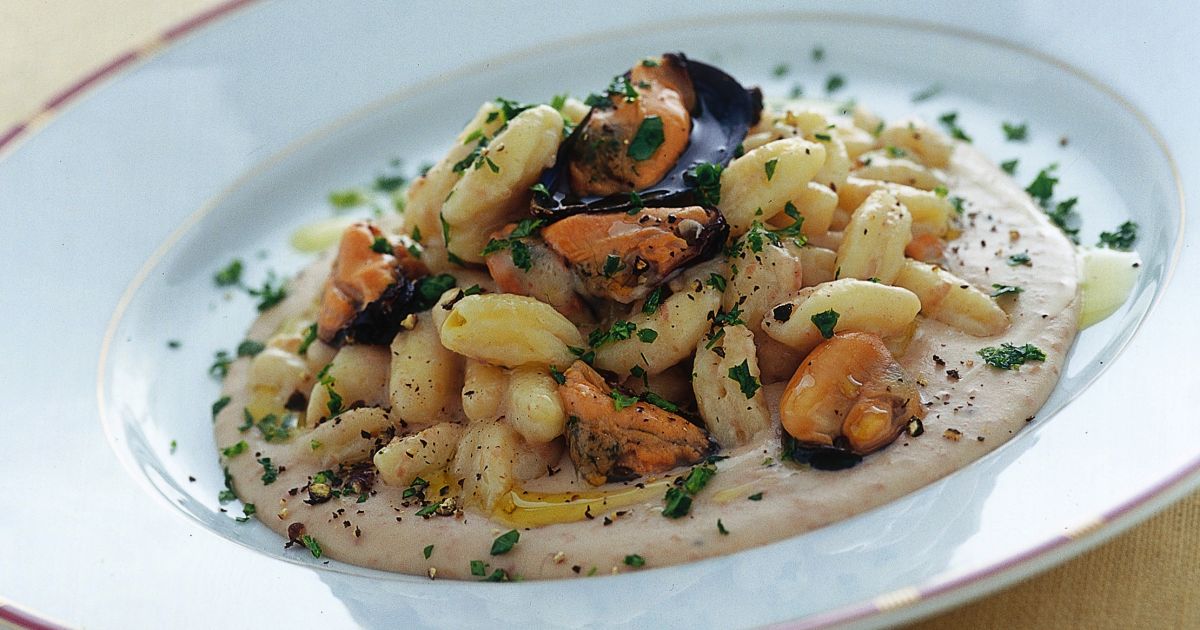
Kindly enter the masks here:
<path id="1" fill-rule="evenodd" d="M 967 335 L 990 337 L 1008 329 L 1008 313 L 995 300 L 942 268 L 907 260 L 895 284 L 917 294 L 926 317 Z"/>

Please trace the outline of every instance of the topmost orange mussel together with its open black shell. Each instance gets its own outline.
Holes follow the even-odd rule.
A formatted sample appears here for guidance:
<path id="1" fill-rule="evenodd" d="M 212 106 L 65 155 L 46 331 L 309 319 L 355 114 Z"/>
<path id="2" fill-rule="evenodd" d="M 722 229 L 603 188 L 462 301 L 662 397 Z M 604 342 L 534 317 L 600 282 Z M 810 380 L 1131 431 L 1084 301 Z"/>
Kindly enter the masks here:
<path id="1" fill-rule="evenodd" d="M 646 59 L 613 79 L 535 186 L 533 211 L 581 212 L 704 204 L 689 172 L 725 166 L 762 112 L 762 94 L 682 53 Z"/>

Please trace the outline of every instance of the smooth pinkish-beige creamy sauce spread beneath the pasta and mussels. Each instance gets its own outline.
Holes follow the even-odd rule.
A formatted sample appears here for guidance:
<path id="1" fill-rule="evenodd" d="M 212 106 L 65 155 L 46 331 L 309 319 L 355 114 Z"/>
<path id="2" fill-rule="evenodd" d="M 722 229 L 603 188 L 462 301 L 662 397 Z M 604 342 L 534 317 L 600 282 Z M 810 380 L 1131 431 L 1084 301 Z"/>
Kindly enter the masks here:
<path id="1" fill-rule="evenodd" d="M 415 515 L 416 506 L 401 505 L 403 488 L 382 482 L 362 503 L 349 496 L 307 505 L 302 491 L 288 491 L 305 486 L 324 467 L 314 458 L 295 458 L 293 454 L 302 449 L 266 443 L 256 431 L 238 430 L 250 402 L 246 360 L 236 361 L 226 380 L 224 394 L 232 402 L 217 418 L 216 443 L 247 440 L 248 452 L 226 463 L 241 499 L 256 504 L 259 520 L 281 535 L 287 535 L 290 523 L 300 522 L 329 558 L 416 575 L 434 569 L 438 578 L 473 578 L 470 560 L 487 563 L 488 574 L 503 569 L 523 578 L 637 570 L 625 564 L 628 554 L 641 556 L 646 568 L 679 564 L 781 540 L 870 510 L 982 457 L 1033 421 L 1058 380 L 1078 329 L 1080 299 L 1070 242 L 973 148 L 960 145 L 946 174 L 952 193 L 967 200 L 962 234 L 947 250 L 948 270 L 985 292 L 992 283 L 1025 290 L 1001 300 L 1012 326 L 995 337 L 972 337 L 919 318 L 900 361 L 922 383 L 928 407 L 924 434 L 901 434 L 854 468 L 822 472 L 781 463 L 775 406 L 784 383 L 774 383 L 766 384 L 774 428 L 722 452 L 728 458 L 718 462 L 719 472 L 683 518 L 661 514 L 670 476 L 593 488 L 566 457 L 557 474 L 529 482 L 526 494 L 502 502 L 496 515 L 468 506 L 461 517 L 425 518 Z M 1019 252 L 1028 253 L 1030 265 L 1008 264 L 1008 256 Z M 260 317 L 248 337 L 268 338 L 282 323 L 311 310 L 328 265 L 324 259 L 302 274 L 290 296 Z M 1032 343 L 1046 359 L 1004 371 L 976 354 L 1001 342 Z M 301 433 L 290 442 L 296 440 L 306 438 Z M 280 467 L 278 479 L 270 485 L 260 479 L 260 457 Z M 437 486 L 434 481 L 431 493 Z M 760 494 L 760 500 L 749 499 Z M 286 510 L 282 516 L 281 510 Z M 569 522 L 556 522 L 562 520 Z M 718 521 L 727 534 L 719 530 Z M 542 522 L 551 524 L 538 526 Z M 503 556 L 490 556 L 492 541 L 512 528 L 521 532 L 520 542 Z M 430 545 L 433 548 L 426 558 Z M 304 547 L 294 552 L 308 553 Z"/>

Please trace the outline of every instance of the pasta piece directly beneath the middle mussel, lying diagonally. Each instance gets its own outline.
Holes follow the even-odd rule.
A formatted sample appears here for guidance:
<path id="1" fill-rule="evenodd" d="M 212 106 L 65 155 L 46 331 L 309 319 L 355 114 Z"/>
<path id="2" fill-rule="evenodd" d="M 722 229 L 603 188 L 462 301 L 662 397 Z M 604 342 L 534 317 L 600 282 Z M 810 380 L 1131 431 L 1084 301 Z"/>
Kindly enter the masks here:
<path id="1" fill-rule="evenodd" d="M 696 342 L 704 335 L 718 308 L 721 306 L 721 294 L 706 284 L 709 269 L 719 266 L 697 265 L 685 276 L 683 290 L 662 301 L 654 313 L 641 310 L 630 316 L 629 320 L 637 330 L 653 330 L 658 334 L 653 342 L 644 342 L 637 335 L 628 340 L 614 341 L 596 349 L 595 365 L 618 374 L 628 374 L 634 366 L 640 366 L 648 374 L 658 374 L 664 370 L 691 356 Z"/>

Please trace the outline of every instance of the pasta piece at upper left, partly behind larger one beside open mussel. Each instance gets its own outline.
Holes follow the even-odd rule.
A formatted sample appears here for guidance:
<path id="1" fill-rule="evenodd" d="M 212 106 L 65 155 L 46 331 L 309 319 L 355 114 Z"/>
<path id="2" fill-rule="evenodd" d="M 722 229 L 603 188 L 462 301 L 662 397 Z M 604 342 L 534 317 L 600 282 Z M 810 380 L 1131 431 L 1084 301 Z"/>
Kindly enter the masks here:
<path id="1" fill-rule="evenodd" d="M 479 138 L 491 138 L 504 122 L 504 114 L 496 103 L 488 101 L 481 104 L 474 118 L 455 138 L 445 157 L 408 187 L 404 228 L 409 233 L 416 232 L 421 235 L 420 241 L 426 250 L 421 260 L 434 271 L 443 271 L 449 266 L 438 215 L 450 190 L 462 178 L 462 169 L 455 170 L 455 164 L 475 149 Z M 437 264 L 438 262 L 440 264 Z"/>

